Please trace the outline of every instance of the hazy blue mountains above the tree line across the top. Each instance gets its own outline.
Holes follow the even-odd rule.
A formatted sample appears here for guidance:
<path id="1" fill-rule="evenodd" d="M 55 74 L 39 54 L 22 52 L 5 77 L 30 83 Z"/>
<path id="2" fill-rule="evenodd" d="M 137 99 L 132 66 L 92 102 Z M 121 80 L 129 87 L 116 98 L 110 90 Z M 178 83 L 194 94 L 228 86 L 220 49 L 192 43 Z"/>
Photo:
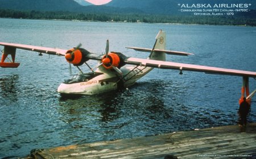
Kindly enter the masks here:
<path id="1" fill-rule="evenodd" d="M 93 5 L 84 0 L 0 0 L 0 9 L 70 11 L 90 14 L 150 14 L 150 15 L 191 15 L 181 12 L 179 4 L 244 4 L 251 3 L 250 9 L 256 9 L 255 0 L 112 0 L 106 5 Z M 83 4 L 84 6 L 80 5 Z M 195 8 L 194 8 L 195 9 Z M 202 9 L 202 8 L 201 8 Z M 229 9 L 229 8 L 226 8 Z M 255 16 L 251 12 L 240 12 Z"/>

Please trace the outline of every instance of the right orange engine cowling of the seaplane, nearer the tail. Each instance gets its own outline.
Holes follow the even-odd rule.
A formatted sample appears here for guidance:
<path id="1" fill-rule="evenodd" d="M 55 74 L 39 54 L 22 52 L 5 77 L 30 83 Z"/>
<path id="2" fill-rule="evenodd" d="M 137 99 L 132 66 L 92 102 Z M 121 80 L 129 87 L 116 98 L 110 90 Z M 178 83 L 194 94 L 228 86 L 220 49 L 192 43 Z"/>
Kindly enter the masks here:
<path id="1" fill-rule="evenodd" d="M 108 57 L 106 55 L 102 57 L 102 63 L 106 69 L 113 69 L 113 66 L 119 68 L 120 58 L 116 53 L 110 52 L 108 53 Z"/>

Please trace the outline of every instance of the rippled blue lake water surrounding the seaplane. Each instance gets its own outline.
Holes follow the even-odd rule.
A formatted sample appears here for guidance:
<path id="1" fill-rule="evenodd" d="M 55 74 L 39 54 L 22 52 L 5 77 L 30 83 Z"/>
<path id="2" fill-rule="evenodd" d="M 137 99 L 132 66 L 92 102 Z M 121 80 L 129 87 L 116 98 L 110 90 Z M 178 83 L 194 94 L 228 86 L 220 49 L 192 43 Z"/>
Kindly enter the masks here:
<path id="1" fill-rule="evenodd" d="M 167 49 L 195 53 L 167 61 L 256 71 L 256 28 L 178 24 L 0 19 L 0 41 L 146 58 L 125 47 L 152 48 L 167 32 Z M 0 47 L 2 50 L 3 47 Z M 158 135 L 236 124 L 242 78 L 154 69 L 129 90 L 61 98 L 69 75 L 63 57 L 18 50 L 17 69 L 0 68 L 0 158 L 31 149 Z M 89 61 L 91 66 L 96 62 Z M 83 66 L 84 72 L 89 69 Z M 73 68 L 73 73 L 77 73 Z M 250 78 L 251 91 L 256 80 Z M 256 122 L 255 97 L 248 122 Z"/>

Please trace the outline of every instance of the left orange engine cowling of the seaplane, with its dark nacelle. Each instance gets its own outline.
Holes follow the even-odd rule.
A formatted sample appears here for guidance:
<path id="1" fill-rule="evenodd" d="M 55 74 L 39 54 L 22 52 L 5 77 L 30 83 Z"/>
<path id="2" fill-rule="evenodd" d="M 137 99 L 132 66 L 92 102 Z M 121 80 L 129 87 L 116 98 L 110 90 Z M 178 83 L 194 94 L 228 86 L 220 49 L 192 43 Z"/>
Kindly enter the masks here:
<path id="1" fill-rule="evenodd" d="M 74 66 L 81 66 L 82 64 L 84 64 L 84 62 L 89 60 L 88 58 L 86 58 L 86 55 L 88 54 L 89 52 L 85 49 L 72 48 L 66 52 L 65 58 L 69 63 L 73 64 Z"/>

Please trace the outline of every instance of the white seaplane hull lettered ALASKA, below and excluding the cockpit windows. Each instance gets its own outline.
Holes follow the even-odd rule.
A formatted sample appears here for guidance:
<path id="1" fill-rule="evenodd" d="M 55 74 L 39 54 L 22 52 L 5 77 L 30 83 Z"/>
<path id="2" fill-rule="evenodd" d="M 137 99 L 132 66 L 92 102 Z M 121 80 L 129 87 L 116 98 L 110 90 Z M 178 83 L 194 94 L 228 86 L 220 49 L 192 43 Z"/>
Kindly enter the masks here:
<path id="1" fill-rule="evenodd" d="M 126 88 L 146 75 L 152 68 L 127 66 L 121 69 L 123 80 L 114 71 L 104 73 L 90 81 L 77 83 L 61 83 L 57 91 L 61 95 L 96 95 L 108 91 Z"/>

